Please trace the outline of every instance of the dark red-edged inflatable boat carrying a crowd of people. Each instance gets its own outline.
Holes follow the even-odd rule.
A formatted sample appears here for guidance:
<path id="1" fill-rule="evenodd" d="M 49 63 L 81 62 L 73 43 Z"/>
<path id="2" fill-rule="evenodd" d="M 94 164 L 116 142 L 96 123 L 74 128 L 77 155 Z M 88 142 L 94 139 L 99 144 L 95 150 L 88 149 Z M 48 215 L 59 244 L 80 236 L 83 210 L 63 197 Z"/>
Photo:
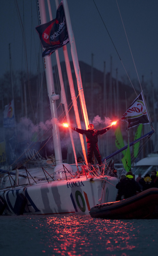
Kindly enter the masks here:
<path id="1" fill-rule="evenodd" d="M 97 204 L 90 209 L 93 218 L 158 219 L 158 188 L 149 188 L 116 202 Z"/>

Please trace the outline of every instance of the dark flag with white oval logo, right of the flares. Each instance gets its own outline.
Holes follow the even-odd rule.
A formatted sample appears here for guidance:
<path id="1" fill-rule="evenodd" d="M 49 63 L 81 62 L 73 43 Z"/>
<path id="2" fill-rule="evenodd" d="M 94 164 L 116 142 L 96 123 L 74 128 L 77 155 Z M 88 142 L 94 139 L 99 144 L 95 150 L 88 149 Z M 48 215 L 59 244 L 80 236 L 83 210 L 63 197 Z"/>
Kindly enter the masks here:
<path id="1" fill-rule="evenodd" d="M 138 124 L 150 124 L 142 92 L 123 114 L 121 120 L 127 121 L 128 128 L 134 127 Z"/>

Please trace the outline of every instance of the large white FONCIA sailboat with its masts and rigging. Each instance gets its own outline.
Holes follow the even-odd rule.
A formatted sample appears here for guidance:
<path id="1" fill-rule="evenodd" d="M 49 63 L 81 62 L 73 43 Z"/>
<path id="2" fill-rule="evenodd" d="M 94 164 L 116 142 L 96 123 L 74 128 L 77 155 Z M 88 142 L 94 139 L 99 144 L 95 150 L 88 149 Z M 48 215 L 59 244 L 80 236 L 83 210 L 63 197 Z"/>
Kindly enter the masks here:
<path id="1" fill-rule="evenodd" d="M 57 3 L 58 1 L 56 1 Z M 49 3 L 49 1 L 48 1 Z M 38 13 L 40 24 L 46 24 L 46 13 L 43 0 L 37 0 Z M 58 6 L 58 4 L 57 4 Z M 80 68 L 78 65 L 78 59 L 76 58 L 76 48 L 75 40 L 73 36 L 73 31 L 71 27 L 71 21 L 68 12 L 67 0 L 63 0 L 60 3 L 58 10 L 63 6 L 65 12 L 65 20 L 67 24 L 68 37 L 61 43 L 64 49 L 65 59 L 67 60 L 66 44 L 70 42 L 72 59 L 75 68 L 75 75 L 77 79 L 78 91 L 80 95 L 80 101 L 83 110 L 85 127 L 88 129 L 89 119 L 87 115 L 83 86 L 80 75 Z M 62 8 L 61 8 L 62 9 Z M 50 11 L 50 8 L 49 8 Z M 63 11 L 63 10 L 62 10 Z M 51 17 L 51 12 L 50 12 Z M 52 19 L 50 19 L 52 20 Z M 48 26 L 52 26 L 53 22 L 50 22 Z M 61 30 L 65 28 L 65 23 L 59 23 L 61 25 Z M 41 29 L 41 27 L 40 27 Z M 59 32 L 59 31 L 58 31 Z M 54 34 L 56 37 L 57 34 Z M 49 35 L 45 33 L 45 39 L 49 38 Z M 52 45 L 51 45 L 52 46 Z M 24 168 L 6 171 L 1 170 L 4 173 L 4 177 L 1 180 L 0 185 L 0 214 L 3 215 L 14 215 L 14 214 L 76 214 L 85 215 L 89 214 L 91 208 L 94 205 L 106 204 L 109 202 L 115 202 L 117 196 L 117 189 L 115 188 L 118 183 L 118 178 L 114 175 L 110 175 L 109 170 L 113 164 L 106 165 L 106 160 L 104 165 L 101 167 L 99 165 L 88 166 L 86 153 L 83 143 L 83 138 L 80 136 L 81 144 L 83 146 L 83 156 L 84 161 L 80 164 L 77 163 L 75 156 L 75 163 L 63 163 L 62 160 L 62 149 L 60 144 L 59 136 L 59 122 L 57 116 L 56 100 L 59 99 L 59 95 L 55 93 L 53 75 L 52 75 L 52 65 L 50 54 L 55 51 L 56 57 L 58 58 L 58 53 L 56 50 L 52 50 L 49 46 L 43 49 L 45 73 L 47 80 L 47 91 L 50 101 L 51 118 L 52 118 L 52 136 L 55 164 L 51 157 L 48 157 L 48 162 L 50 165 L 38 167 L 38 168 Z M 75 53 L 75 54 L 74 54 Z M 68 60 L 67 60 L 68 62 Z M 67 65 L 68 66 L 68 65 Z M 67 68 L 68 69 L 68 68 Z M 71 80 L 71 75 L 68 75 Z M 62 80 L 62 79 L 61 79 Z M 61 81 L 62 82 L 62 81 Z M 71 93 L 73 95 L 74 89 L 71 88 Z M 62 92 L 64 91 L 64 88 Z M 64 95 L 63 95 L 64 97 Z M 74 102 L 75 106 L 75 102 Z M 67 113 L 67 104 L 65 102 L 65 112 Z M 78 120 L 77 109 L 75 108 L 76 123 L 78 128 L 81 128 L 81 124 Z M 71 137 L 71 128 L 67 115 L 67 125 Z M 62 125 L 60 123 L 60 125 Z M 48 141 L 43 142 L 42 147 L 44 147 Z M 73 141 L 72 141 L 73 145 Z M 38 145 L 39 147 L 41 145 Z M 74 148 L 74 145 L 73 145 Z M 122 149 L 123 150 L 123 149 Z M 44 149 L 46 152 L 46 149 Z M 30 152 L 30 151 L 29 151 Z M 31 158 L 35 157 L 39 150 L 34 152 L 35 154 L 30 154 Z M 49 155 L 47 155 L 49 156 Z M 112 157 L 112 156 L 111 156 Z M 109 159 L 108 156 L 106 159 Z M 111 163 L 111 162 L 110 162 Z"/>

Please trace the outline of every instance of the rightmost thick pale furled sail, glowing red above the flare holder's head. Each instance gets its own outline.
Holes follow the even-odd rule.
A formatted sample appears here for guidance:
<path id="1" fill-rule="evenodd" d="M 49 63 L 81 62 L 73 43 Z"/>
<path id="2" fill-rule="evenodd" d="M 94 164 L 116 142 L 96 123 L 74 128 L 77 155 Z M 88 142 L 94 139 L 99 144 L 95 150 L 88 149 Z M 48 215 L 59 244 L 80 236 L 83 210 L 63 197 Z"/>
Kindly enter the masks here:
<path id="1" fill-rule="evenodd" d="M 76 79 L 77 79 L 78 92 L 80 95 L 80 100 L 81 100 L 81 105 L 82 105 L 82 110 L 83 110 L 84 122 L 86 125 L 86 129 L 88 129 L 89 121 L 88 121 L 87 109 L 86 109 L 86 104 L 85 104 L 85 99 L 84 99 L 84 94 L 83 94 L 81 73 L 80 73 L 80 68 L 79 68 L 79 63 L 78 63 L 75 38 L 74 38 L 72 26 L 71 26 L 71 20 L 70 20 L 67 0 L 63 0 L 63 6 L 64 6 L 65 18 L 66 18 L 66 22 L 67 22 L 67 31 L 68 31 L 69 41 L 70 41 L 70 45 L 71 45 L 71 55 L 72 55 L 72 60 L 73 60 L 74 69 L 75 69 L 75 75 L 76 75 Z"/>

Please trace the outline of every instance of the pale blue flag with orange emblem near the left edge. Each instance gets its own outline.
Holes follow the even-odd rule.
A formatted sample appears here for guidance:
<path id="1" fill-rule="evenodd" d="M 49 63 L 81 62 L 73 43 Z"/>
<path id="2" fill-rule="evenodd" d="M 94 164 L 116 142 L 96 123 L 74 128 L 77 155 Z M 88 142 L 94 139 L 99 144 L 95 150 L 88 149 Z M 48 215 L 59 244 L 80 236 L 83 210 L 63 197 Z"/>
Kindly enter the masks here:
<path id="1" fill-rule="evenodd" d="M 15 127 L 14 100 L 12 100 L 8 105 L 4 107 L 3 127 Z"/>

